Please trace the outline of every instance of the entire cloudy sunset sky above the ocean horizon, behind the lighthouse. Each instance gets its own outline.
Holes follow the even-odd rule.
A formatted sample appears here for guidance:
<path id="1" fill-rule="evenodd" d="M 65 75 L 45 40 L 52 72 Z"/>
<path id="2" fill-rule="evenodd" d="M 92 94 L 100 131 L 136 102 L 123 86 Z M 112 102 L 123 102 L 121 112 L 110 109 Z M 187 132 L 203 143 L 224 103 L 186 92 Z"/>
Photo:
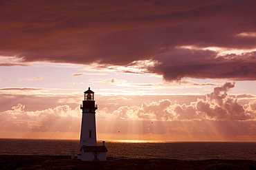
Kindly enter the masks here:
<path id="1" fill-rule="evenodd" d="M 256 142 L 256 1 L 0 1 L 0 138 Z"/>

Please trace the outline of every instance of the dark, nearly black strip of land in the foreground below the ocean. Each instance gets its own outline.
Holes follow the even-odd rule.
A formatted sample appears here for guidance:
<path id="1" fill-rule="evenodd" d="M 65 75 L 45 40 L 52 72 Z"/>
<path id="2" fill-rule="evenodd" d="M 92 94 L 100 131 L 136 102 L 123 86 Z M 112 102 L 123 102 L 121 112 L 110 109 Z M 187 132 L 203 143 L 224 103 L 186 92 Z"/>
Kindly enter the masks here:
<path id="1" fill-rule="evenodd" d="M 71 160 L 71 156 L 0 156 L 0 169 L 256 169 L 253 160 L 112 159 Z"/>

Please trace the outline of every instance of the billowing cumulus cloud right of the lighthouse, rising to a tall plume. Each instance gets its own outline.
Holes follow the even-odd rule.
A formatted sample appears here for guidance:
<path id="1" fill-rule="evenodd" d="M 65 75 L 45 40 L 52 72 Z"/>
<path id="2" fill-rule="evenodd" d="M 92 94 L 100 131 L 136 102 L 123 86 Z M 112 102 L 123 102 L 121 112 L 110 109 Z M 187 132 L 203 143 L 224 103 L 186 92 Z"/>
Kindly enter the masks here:
<path id="1" fill-rule="evenodd" d="M 237 98 L 228 96 L 227 92 L 235 83 L 225 83 L 215 87 L 206 94 L 206 100 L 198 98 L 190 104 L 178 104 L 168 99 L 158 102 L 143 103 L 138 106 L 122 106 L 111 113 L 112 116 L 127 120 L 190 121 L 190 120 L 255 120 L 255 102 L 249 107 L 237 102 Z M 106 116 L 106 113 L 102 114 Z"/>

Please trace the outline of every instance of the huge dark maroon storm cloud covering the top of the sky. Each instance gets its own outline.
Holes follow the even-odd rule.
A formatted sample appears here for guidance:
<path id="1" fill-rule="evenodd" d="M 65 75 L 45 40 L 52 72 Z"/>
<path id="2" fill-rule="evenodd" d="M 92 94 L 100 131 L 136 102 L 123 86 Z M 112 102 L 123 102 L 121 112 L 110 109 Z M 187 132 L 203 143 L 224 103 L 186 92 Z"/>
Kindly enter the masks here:
<path id="1" fill-rule="evenodd" d="M 255 80 L 256 1 L 1 1 L 0 55 L 25 62 L 129 65 L 154 59 L 166 80 Z M 231 57 L 231 59 L 230 59 Z"/>

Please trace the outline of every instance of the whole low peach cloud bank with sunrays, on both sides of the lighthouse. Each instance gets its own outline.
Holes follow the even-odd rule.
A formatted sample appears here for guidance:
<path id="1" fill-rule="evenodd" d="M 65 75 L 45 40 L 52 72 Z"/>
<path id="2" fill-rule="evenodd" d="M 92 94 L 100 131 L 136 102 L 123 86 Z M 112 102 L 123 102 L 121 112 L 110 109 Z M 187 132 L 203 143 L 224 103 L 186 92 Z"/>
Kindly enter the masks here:
<path id="1" fill-rule="evenodd" d="M 236 96 L 228 95 L 233 87 L 235 83 L 225 83 L 205 94 L 205 98 L 187 104 L 164 99 L 150 103 L 141 103 L 140 100 L 140 105 L 133 103 L 118 106 L 116 102 L 125 100 L 125 103 L 129 103 L 131 99 L 104 99 L 108 104 L 102 103 L 96 114 L 98 133 L 116 136 L 120 133 L 164 135 L 165 140 L 179 140 L 184 136 L 191 136 L 191 139 L 194 136 L 194 140 L 243 140 L 243 136 L 247 136 L 244 140 L 248 140 L 256 135 L 256 100 L 250 100 L 245 105 L 239 104 Z M 111 108 L 108 108 L 111 102 Z M 69 105 L 58 105 L 26 111 L 26 106 L 19 103 L 0 113 L 0 132 L 79 134 L 80 123 L 80 106 L 72 108 Z"/>

